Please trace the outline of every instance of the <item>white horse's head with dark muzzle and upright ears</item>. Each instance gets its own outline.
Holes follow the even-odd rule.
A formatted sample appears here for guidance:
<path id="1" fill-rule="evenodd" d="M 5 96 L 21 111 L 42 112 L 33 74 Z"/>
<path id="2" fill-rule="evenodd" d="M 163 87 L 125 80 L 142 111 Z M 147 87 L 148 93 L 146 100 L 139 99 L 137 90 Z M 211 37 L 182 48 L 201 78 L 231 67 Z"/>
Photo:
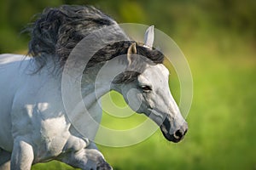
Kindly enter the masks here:
<path id="1" fill-rule="evenodd" d="M 126 55 L 127 72 L 119 75 L 126 82 L 119 81 L 115 86 L 133 111 L 148 116 L 160 126 L 166 139 L 176 143 L 187 133 L 188 124 L 169 89 L 169 71 L 162 64 L 163 54 L 152 48 L 154 27 L 148 28 L 144 41 L 142 46 L 131 43 Z"/>

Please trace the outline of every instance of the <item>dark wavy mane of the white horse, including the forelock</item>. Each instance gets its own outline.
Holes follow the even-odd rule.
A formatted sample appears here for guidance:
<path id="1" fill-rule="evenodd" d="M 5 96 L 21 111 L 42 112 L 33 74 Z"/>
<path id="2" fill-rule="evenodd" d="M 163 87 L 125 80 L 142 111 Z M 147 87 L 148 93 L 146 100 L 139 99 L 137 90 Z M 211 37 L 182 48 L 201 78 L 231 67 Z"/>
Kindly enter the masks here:
<path id="1" fill-rule="evenodd" d="M 59 8 L 46 8 L 29 28 L 32 39 L 29 42 L 28 54 L 36 60 L 39 69 L 46 65 L 49 58 L 54 58 L 60 65 L 65 65 L 73 48 L 91 31 L 113 25 L 117 25 L 115 20 L 91 6 L 62 5 Z M 100 49 L 92 56 L 87 68 L 127 54 L 127 49 L 134 41 L 131 41 L 122 30 L 116 36 L 126 37 L 126 41 L 114 42 Z M 162 63 L 164 59 L 160 51 L 145 48 L 140 43 L 137 43 L 137 54 L 143 55 L 155 64 Z M 132 66 L 143 71 L 144 65 L 145 62 L 138 62 L 135 59 Z M 126 71 L 116 82 L 131 82 L 137 75 L 136 72 Z"/>

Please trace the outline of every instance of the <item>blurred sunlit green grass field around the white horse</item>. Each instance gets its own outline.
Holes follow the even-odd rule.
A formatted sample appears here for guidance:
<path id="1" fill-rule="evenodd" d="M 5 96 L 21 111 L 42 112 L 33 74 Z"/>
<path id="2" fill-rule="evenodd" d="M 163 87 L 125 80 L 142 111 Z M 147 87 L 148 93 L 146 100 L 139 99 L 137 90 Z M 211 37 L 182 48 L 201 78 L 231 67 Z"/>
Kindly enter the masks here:
<path id="1" fill-rule="evenodd" d="M 194 78 L 193 105 L 187 117 L 189 133 L 185 139 L 172 144 L 158 130 L 149 139 L 129 147 L 98 145 L 114 169 L 256 169 L 255 51 L 241 43 L 231 49 L 220 49 L 218 42 L 204 44 L 207 45 L 194 44 L 183 49 Z M 172 91 L 178 89 L 177 82 L 171 81 L 172 85 Z M 178 93 L 174 94 L 178 98 Z M 112 98 L 117 98 L 117 105 L 123 105 L 116 94 Z M 136 125 L 137 117 L 143 121 L 141 116 L 131 116 L 125 127 Z M 124 124 L 108 115 L 103 116 L 102 123 L 116 128 Z M 51 161 L 32 169 L 72 168 Z"/>

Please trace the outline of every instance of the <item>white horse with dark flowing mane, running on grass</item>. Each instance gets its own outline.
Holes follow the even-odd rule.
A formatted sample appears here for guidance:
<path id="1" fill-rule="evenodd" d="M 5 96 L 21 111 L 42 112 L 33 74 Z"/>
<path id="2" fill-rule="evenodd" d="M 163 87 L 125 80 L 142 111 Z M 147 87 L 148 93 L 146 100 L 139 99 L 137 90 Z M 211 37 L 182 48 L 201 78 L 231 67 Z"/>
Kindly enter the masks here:
<path id="1" fill-rule="evenodd" d="M 84 27 L 79 17 L 85 17 L 81 21 L 85 22 Z M 74 20 L 78 20 L 79 24 L 76 25 Z M 67 47 L 73 44 L 72 50 L 83 38 L 81 35 L 85 37 L 88 32 L 109 25 L 117 24 L 96 8 L 49 8 L 32 28 L 32 58 L 16 54 L 0 55 L 0 169 L 26 170 L 31 169 L 32 164 L 50 160 L 62 161 L 81 169 L 112 169 L 96 149 L 96 144 L 84 138 L 68 119 L 62 102 L 60 74 L 70 54 Z M 68 34 L 74 37 L 68 37 Z M 124 36 L 124 33 L 121 34 Z M 75 35 L 79 35 L 80 39 L 77 40 Z M 74 39 L 78 42 L 69 42 Z M 83 99 L 85 105 L 90 104 L 87 105 L 88 111 L 99 121 L 102 111 L 96 95 L 91 94 L 102 96 L 109 90 L 116 90 L 123 95 L 131 109 L 156 122 L 166 139 L 178 142 L 183 139 L 188 125 L 172 98 L 168 86 L 169 72 L 162 65 L 163 55 L 152 48 L 153 41 L 154 28 L 150 27 L 145 33 L 143 45 L 129 40 L 102 48 L 90 60 L 88 71 L 84 71 L 85 81 L 81 85 Z M 65 46 L 65 43 L 69 46 Z M 115 67 L 109 65 L 109 72 L 98 80 L 102 86 L 95 86 L 96 74 L 90 70 L 95 70 L 98 65 L 118 54 L 125 55 L 122 55 L 121 61 L 113 61 L 113 65 L 127 71 L 113 80 L 110 72 Z M 144 55 L 152 61 L 138 60 L 137 55 L 133 54 Z M 137 68 L 140 72 L 129 71 L 134 67 L 140 67 Z M 90 78 L 86 81 L 88 75 Z M 111 84 L 111 89 L 105 84 Z M 83 115 L 82 112 L 77 114 Z M 84 123 L 87 123 L 86 120 Z M 92 129 L 93 133 L 96 130 Z"/>

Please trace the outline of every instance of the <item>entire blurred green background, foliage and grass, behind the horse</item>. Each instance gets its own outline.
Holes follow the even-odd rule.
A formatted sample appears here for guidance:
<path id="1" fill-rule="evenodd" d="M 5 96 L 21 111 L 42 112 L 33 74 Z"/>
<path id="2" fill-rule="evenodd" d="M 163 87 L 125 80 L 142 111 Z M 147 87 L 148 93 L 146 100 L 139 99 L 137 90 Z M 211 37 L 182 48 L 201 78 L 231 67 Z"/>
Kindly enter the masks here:
<path id="1" fill-rule="evenodd" d="M 256 169 L 255 0 L 1 0 L 0 53 L 26 54 L 29 36 L 20 31 L 43 8 L 64 3 L 95 5 L 119 23 L 154 25 L 177 42 L 193 74 L 185 139 L 172 144 L 157 131 L 125 148 L 99 145 L 114 169 Z M 178 100 L 175 74 L 170 88 Z M 51 161 L 32 169 L 73 168 Z"/>

